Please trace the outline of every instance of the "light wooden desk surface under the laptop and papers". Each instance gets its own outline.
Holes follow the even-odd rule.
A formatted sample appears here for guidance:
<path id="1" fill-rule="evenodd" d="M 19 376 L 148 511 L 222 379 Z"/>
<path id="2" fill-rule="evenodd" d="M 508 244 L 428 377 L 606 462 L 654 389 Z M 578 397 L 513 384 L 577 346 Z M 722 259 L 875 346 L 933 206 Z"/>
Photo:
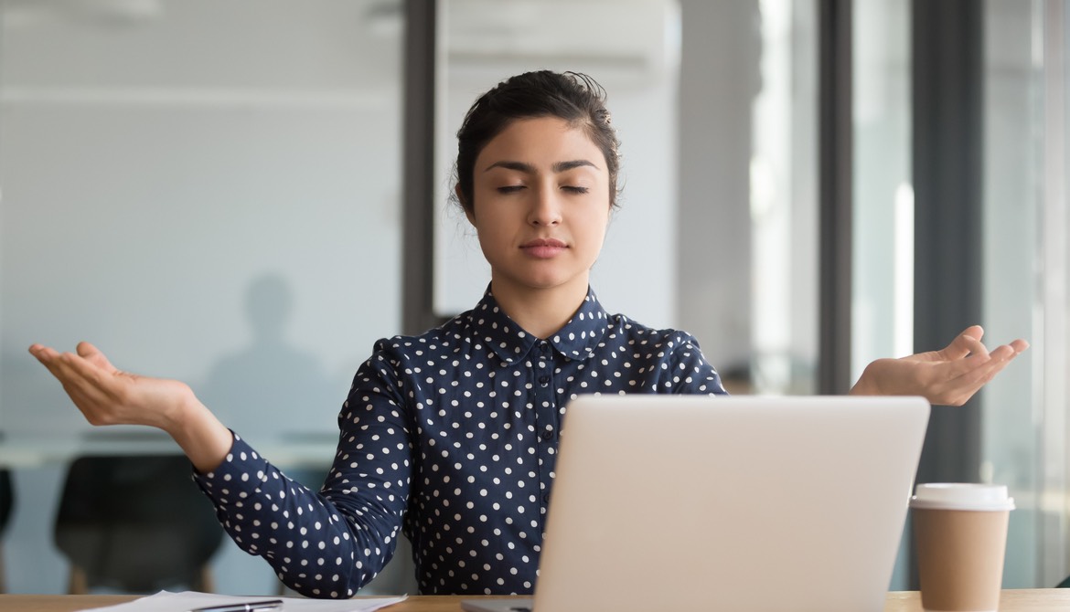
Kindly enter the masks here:
<path id="1" fill-rule="evenodd" d="M 386 612 L 460 612 L 462 596 L 421 595 L 386 608 Z M 0 612 L 74 612 L 129 601 L 128 595 L 0 595 Z M 999 612 L 1070 610 L 1070 589 L 1004 591 Z M 595 612 L 595 611 L 592 611 Z M 672 612 L 672 611 L 668 611 Z M 921 612 L 917 592 L 889 593 L 884 612 Z"/>

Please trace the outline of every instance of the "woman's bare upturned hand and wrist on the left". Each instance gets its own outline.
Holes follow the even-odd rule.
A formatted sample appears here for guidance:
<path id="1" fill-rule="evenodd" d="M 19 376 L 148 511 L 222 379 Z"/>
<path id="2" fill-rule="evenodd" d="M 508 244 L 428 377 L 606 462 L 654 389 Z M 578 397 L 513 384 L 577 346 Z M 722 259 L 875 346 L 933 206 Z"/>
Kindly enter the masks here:
<path id="1" fill-rule="evenodd" d="M 178 380 L 118 370 L 88 342 L 76 352 L 30 347 L 93 425 L 149 425 L 169 434 L 200 472 L 215 469 L 233 443 L 229 429 Z"/>

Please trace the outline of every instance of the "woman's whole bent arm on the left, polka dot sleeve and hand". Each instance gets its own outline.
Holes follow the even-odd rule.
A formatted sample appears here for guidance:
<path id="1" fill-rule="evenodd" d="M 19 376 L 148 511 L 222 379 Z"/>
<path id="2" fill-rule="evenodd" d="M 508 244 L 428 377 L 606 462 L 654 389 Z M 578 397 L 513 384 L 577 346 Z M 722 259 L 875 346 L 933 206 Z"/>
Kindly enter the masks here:
<path id="1" fill-rule="evenodd" d="M 85 342 L 75 352 L 40 344 L 30 352 L 90 423 L 149 425 L 170 434 L 197 468 L 195 482 L 227 533 L 302 594 L 352 597 L 393 555 L 409 501 L 410 461 L 369 449 L 371 440 L 376 449 L 409 444 L 404 425 L 387 418 L 400 419 L 396 403 L 382 402 L 376 413 L 347 413 L 353 431 L 343 436 L 320 495 L 232 435 L 183 382 L 122 372 Z"/>

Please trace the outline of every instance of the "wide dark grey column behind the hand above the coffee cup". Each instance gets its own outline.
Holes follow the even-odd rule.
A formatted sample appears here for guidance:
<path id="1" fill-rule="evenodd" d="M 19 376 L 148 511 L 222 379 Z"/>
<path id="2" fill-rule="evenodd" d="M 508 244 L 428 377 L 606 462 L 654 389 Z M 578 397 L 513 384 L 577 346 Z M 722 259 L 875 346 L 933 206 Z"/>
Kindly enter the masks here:
<path id="1" fill-rule="evenodd" d="M 974 0 L 914 0 L 914 346 L 945 346 L 981 320 L 983 12 Z M 934 407 L 918 482 L 976 482 L 981 415 Z"/>

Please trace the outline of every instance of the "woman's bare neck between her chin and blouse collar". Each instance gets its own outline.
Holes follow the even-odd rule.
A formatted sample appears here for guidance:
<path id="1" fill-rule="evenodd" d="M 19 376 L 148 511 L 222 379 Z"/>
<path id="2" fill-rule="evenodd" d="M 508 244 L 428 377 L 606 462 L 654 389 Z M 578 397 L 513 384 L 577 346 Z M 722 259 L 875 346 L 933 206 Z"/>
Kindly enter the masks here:
<path id="1" fill-rule="evenodd" d="M 587 281 L 569 283 L 549 289 L 517 286 L 492 279 L 490 291 L 498 304 L 528 333 L 551 338 L 565 327 L 587 297 Z"/>

